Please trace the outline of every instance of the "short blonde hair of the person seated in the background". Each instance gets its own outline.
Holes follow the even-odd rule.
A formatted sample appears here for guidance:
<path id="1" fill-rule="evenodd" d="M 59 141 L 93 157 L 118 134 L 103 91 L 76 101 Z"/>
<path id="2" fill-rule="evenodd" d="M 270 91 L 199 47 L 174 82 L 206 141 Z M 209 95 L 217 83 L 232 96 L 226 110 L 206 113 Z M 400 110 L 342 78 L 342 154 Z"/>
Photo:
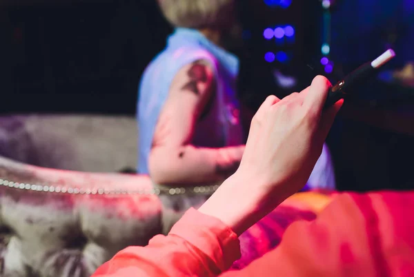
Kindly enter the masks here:
<path id="1" fill-rule="evenodd" d="M 164 17 L 175 27 L 226 28 L 233 21 L 235 0 L 158 0 Z"/>

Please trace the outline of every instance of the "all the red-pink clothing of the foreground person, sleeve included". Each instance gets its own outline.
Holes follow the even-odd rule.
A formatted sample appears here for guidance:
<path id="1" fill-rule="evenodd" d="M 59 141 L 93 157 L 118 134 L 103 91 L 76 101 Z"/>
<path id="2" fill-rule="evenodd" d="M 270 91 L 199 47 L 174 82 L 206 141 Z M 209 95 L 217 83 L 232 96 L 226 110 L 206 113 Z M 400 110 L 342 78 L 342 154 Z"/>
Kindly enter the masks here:
<path id="1" fill-rule="evenodd" d="M 339 194 L 313 222 L 290 225 L 282 243 L 222 276 L 413 276 L 414 192 Z M 217 276 L 240 255 L 235 234 L 190 210 L 168 236 L 130 247 L 97 276 Z"/>

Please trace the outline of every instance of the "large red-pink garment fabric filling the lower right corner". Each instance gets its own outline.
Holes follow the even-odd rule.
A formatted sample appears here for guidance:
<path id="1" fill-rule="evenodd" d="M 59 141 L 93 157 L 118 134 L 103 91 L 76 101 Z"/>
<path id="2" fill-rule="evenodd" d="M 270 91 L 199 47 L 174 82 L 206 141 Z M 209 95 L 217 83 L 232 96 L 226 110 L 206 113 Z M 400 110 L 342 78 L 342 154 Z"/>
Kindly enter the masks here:
<path id="1" fill-rule="evenodd" d="M 414 276 L 413 192 L 341 194 L 279 247 L 220 277 Z"/>

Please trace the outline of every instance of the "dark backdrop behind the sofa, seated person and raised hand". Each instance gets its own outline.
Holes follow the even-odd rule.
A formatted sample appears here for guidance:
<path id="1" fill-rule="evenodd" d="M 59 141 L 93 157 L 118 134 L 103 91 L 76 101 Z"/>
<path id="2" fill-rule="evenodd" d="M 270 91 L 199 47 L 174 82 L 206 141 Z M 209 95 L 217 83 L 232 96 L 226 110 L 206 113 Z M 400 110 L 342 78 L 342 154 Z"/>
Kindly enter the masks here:
<path id="1" fill-rule="evenodd" d="M 244 44 L 232 51 L 242 63 L 240 98 L 252 109 L 268 94 L 282 97 L 326 74 L 319 63 L 321 2 L 269 6 L 284 1 L 238 2 Z M 337 81 L 389 47 L 398 56 L 386 70 L 414 61 L 413 11 L 408 0 L 335 1 L 329 56 L 335 66 L 326 76 Z M 265 28 L 286 24 L 295 28 L 292 43 L 264 39 Z M 1 112 L 135 114 L 140 76 L 171 31 L 153 0 L 2 1 Z M 288 61 L 264 61 L 266 52 L 279 50 Z M 280 88 L 276 69 L 297 84 Z M 373 79 L 347 99 L 328 137 L 339 189 L 414 187 L 413 96 L 412 88 Z"/>

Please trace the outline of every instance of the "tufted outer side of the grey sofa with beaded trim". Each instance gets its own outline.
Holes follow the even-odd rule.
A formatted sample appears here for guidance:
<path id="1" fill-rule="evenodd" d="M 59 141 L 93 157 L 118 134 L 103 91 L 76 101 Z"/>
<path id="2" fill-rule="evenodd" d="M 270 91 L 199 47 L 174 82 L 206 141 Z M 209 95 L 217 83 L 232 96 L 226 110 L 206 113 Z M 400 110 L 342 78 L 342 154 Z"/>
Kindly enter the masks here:
<path id="1" fill-rule="evenodd" d="M 208 197 L 196 196 L 197 203 L 169 196 L 188 203 L 169 209 L 147 176 L 50 170 L 6 158 L 0 176 L 1 276 L 90 276 L 119 250 L 167 233 Z"/>

